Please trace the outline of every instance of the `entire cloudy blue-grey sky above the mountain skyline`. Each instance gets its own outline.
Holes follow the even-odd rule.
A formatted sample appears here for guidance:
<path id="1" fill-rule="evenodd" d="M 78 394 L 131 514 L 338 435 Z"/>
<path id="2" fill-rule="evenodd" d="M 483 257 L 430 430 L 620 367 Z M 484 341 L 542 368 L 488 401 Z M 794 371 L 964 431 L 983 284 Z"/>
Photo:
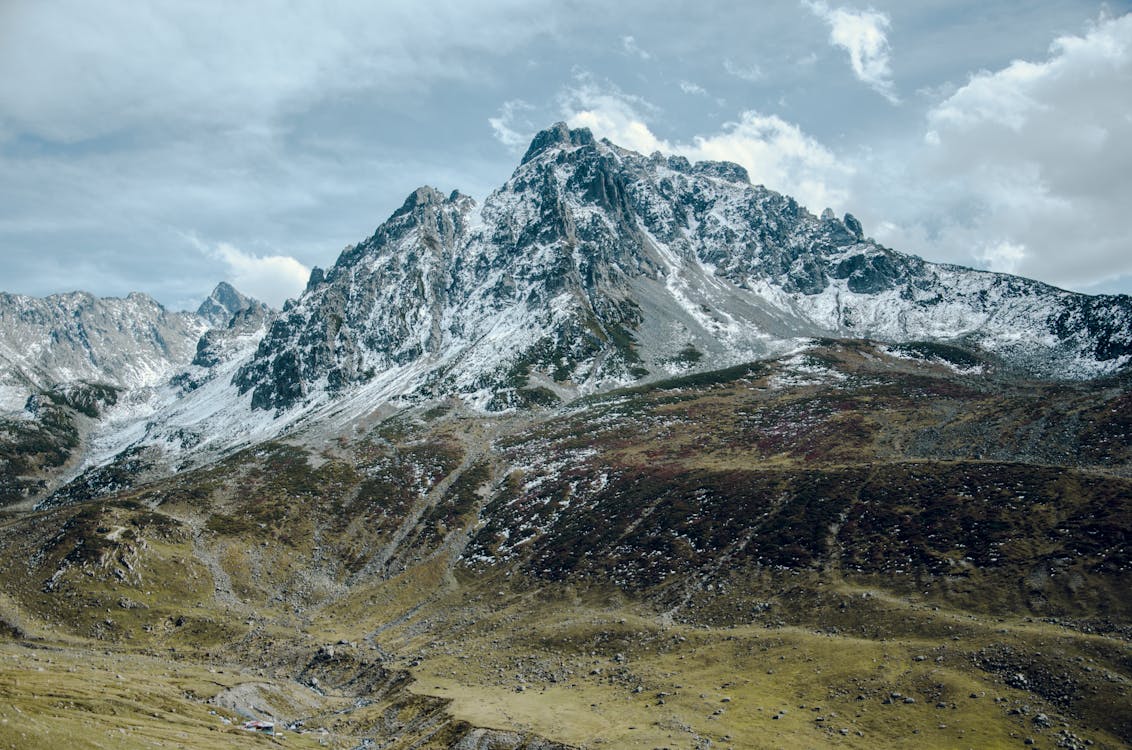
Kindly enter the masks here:
<path id="1" fill-rule="evenodd" d="M 280 305 L 556 121 L 1132 293 L 1132 0 L 0 0 L 0 291 Z"/>

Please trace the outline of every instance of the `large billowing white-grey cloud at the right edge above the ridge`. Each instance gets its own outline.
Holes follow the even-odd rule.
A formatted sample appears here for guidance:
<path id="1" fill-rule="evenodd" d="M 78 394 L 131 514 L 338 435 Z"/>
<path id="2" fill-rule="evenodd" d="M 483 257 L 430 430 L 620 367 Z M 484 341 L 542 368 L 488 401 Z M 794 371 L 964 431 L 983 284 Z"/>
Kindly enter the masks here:
<path id="1" fill-rule="evenodd" d="M 923 139 L 861 170 L 886 241 L 1082 288 L 1132 276 L 1132 15 L 978 72 L 933 106 Z M 874 212 L 875 213 L 875 212 Z"/>

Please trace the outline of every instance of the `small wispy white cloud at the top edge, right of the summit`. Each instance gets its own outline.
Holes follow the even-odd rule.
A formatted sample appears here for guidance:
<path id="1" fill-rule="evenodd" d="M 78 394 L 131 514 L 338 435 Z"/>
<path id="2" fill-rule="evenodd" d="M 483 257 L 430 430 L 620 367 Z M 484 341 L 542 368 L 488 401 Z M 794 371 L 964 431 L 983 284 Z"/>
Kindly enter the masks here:
<path id="1" fill-rule="evenodd" d="M 889 60 L 889 16 L 873 9 L 830 8 L 823 0 L 805 5 L 829 25 L 830 44 L 849 53 L 854 75 L 895 104 L 899 100 L 893 92 Z"/>

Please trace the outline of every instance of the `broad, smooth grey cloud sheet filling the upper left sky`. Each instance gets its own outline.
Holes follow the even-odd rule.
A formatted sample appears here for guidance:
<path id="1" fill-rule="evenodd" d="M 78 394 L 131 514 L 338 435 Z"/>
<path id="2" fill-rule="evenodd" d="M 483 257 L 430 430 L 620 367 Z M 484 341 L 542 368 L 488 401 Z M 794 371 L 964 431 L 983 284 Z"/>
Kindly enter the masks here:
<path id="1" fill-rule="evenodd" d="M 245 127 L 359 93 L 473 80 L 556 27 L 549 0 L 0 5 L 10 133 L 77 143 L 137 124 Z"/>

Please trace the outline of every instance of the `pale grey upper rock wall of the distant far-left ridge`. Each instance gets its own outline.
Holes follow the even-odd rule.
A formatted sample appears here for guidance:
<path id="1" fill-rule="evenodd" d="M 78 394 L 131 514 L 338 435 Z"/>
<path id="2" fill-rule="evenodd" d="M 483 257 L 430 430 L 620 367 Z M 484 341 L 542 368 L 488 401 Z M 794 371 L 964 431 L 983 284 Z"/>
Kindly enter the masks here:
<path id="1" fill-rule="evenodd" d="M 32 394 L 68 383 L 158 385 L 192 359 L 206 328 L 145 294 L 0 294 L 0 411 L 23 410 Z"/>

